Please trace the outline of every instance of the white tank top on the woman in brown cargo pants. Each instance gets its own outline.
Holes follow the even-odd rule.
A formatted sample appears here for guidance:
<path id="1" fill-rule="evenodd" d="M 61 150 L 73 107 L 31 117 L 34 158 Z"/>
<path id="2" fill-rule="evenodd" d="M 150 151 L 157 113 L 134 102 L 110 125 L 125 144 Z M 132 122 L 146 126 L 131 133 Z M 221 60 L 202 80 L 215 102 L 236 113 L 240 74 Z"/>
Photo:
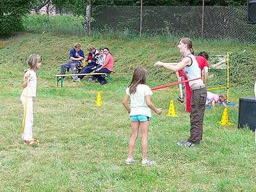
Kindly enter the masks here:
<path id="1" fill-rule="evenodd" d="M 191 65 L 187 65 L 186 67 L 184 67 L 184 72 L 185 72 L 186 76 L 188 77 L 188 80 L 201 77 L 201 70 L 198 66 L 195 56 L 193 56 L 193 54 L 188 54 L 188 56 L 186 56 L 186 58 L 187 57 L 191 59 Z M 189 81 L 189 86 L 191 87 L 195 83 L 204 84 L 202 79 L 197 79 L 195 81 Z"/>

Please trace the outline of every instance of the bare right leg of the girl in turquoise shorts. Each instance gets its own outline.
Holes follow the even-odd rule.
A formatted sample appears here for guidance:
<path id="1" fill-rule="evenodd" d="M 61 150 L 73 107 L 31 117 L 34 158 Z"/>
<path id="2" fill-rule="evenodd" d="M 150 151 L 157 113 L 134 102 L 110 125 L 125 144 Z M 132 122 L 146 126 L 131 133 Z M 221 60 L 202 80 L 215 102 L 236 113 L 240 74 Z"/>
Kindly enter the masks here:
<path id="1" fill-rule="evenodd" d="M 147 159 L 149 122 L 140 122 L 142 160 Z"/>

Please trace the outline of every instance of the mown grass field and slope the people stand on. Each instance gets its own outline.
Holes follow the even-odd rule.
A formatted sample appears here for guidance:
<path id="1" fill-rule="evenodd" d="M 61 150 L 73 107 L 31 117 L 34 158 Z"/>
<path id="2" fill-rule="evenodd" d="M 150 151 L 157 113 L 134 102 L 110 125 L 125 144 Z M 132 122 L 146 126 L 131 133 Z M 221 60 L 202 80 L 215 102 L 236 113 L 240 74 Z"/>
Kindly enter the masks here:
<path id="1" fill-rule="evenodd" d="M 86 78 L 81 83 L 65 79 L 64 88 L 56 88 L 52 75 L 60 73 L 60 65 L 68 60 L 75 42 L 81 42 L 84 50 L 88 44 L 109 47 L 116 71 L 111 83 L 100 86 Z M 157 60 L 179 59 L 176 43 L 159 38 L 131 41 L 48 34 L 2 39 L 0 191 L 256 191 L 254 134 L 237 129 L 239 97 L 253 95 L 255 45 L 195 42 L 196 52 L 205 50 L 213 55 L 230 51 L 230 101 L 236 106 L 228 107 L 228 116 L 234 125 L 217 123 L 222 106 L 206 109 L 202 143 L 195 148 L 179 147 L 176 143 L 189 136 L 189 114 L 176 100 L 179 88 L 156 90 L 152 101 L 164 113 L 152 116 L 148 158 L 157 164 L 141 166 L 140 139 L 134 150 L 136 164 L 125 164 L 131 123 L 122 99 L 132 70 L 145 66 L 150 87 L 176 81 L 175 74 L 153 67 Z M 37 72 L 33 127 L 40 144 L 26 146 L 20 138 L 20 93 L 26 60 L 32 53 L 43 58 Z M 207 86 L 225 84 L 225 70 L 211 69 L 210 73 Z M 103 100 L 100 107 L 95 107 L 97 92 Z M 170 100 L 174 100 L 179 118 L 166 116 Z"/>

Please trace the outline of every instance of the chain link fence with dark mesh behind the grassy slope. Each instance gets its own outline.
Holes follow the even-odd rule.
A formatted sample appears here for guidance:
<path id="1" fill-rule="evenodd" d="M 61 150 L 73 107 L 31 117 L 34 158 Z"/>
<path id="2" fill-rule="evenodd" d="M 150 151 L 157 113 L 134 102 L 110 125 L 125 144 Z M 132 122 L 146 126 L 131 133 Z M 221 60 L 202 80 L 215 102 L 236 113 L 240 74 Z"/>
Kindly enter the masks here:
<path id="1" fill-rule="evenodd" d="M 92 31 L 129 31 L 140 35 L 188 36 L 204 40 L 256 42 L 256 24 L 247 24 L 246 6 L 97 6 Z"/>

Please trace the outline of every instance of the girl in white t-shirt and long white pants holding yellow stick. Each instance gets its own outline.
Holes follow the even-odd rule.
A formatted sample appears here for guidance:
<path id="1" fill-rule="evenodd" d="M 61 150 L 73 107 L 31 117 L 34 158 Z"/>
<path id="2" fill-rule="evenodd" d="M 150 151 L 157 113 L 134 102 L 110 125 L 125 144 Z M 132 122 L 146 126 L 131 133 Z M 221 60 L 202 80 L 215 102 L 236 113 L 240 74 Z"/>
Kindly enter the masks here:
<path id="1" fill-rule="evenodd" d="M 36 71 L 41 66 L 42 58 L 37 54 L 31 54 L 28 58 L 29 69 L 24 74 L 23 91 L 20 100 L 24 108 L 22 139 L 26 144 L 37 144 L 33 140 L 33 98 L 36 97 Z"/>

